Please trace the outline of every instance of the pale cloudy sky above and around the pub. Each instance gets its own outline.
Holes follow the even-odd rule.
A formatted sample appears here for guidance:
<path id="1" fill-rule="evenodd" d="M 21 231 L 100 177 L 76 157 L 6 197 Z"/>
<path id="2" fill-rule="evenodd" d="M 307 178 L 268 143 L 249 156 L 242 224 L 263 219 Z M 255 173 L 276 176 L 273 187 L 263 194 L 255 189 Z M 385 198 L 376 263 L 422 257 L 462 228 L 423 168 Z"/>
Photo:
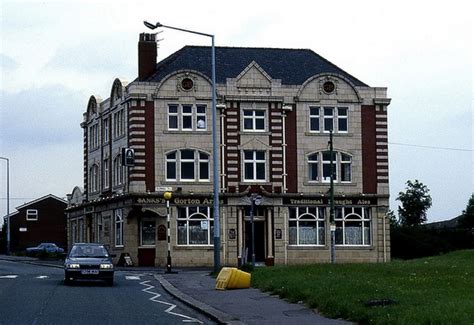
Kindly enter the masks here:
<path id="1" fill-rule="evenodd" d="M 83 186 L 82 114 L 91 95 L 109 97 L 115 78 L 137 76 L 144 20 L 214 34 L 216 46 L 311 49 L 387 87 L 392 210 L 407 180 L 430 189 L 428 222 L 458 216 L 474 192 L 468 0 L 0 3 L 0 156 L 10 162 L 10 212 Z M 209 45 L 172 30 L 159 38 L 158 60 Z M 1 216 L 6 174 L 0 160 Z"/>

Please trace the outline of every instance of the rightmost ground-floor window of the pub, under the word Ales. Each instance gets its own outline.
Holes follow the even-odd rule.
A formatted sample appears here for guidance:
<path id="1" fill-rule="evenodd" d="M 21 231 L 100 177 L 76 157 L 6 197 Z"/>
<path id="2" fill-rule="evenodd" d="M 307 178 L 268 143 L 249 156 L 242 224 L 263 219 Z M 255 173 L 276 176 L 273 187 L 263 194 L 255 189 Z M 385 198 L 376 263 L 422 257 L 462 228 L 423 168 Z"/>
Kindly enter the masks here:
<path id="1" fill-rule="evenodd" d="M 336 245 L 368 246 L 371 244 L 369 207 L 336 207 Z"/>

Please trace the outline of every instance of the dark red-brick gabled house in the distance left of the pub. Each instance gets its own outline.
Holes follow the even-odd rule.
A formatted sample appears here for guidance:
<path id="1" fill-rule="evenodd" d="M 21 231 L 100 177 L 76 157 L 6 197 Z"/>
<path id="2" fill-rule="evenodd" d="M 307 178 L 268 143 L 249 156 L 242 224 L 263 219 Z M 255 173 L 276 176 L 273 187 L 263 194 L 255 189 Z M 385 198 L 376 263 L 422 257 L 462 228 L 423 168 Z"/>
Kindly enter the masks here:
<path id="1" fill-rule="evenodd" d="M 17 207 L 10 214 L 11 251 L 46 242 L 67 249 L 66 207 L 65 200 L 52 194 Z"/>

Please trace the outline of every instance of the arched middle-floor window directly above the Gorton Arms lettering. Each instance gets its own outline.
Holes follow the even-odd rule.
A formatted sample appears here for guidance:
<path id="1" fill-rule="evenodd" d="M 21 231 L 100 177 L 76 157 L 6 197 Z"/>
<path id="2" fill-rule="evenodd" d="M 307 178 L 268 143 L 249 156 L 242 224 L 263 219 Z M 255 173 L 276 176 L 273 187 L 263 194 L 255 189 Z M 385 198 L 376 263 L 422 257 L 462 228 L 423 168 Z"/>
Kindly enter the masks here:
<path id="1" fill-rule="evenodd" d="M 176 150 L 166 154 L 167 181 L 209 181 L 209 155 L 193 149 Z"/>

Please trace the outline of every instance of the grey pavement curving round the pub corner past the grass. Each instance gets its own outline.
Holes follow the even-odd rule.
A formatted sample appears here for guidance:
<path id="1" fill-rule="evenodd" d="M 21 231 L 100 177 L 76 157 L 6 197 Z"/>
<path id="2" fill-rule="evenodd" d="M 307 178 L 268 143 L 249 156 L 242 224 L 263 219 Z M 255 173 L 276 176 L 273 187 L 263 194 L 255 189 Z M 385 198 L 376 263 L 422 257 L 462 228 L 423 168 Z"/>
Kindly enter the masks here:
<path id="1" fill-rule="evenodd" d="M 61 260 L 0 255 L 0 260 L 63 267 Z M 211 269 L 117 267 L 117 271 L 152 272 L 164 290 L 176 299 L 206 314 L 219 324 L 351 324 L 319 315 L 304 304 L 293 304 L 258 289 L 216 290 Z"/>

